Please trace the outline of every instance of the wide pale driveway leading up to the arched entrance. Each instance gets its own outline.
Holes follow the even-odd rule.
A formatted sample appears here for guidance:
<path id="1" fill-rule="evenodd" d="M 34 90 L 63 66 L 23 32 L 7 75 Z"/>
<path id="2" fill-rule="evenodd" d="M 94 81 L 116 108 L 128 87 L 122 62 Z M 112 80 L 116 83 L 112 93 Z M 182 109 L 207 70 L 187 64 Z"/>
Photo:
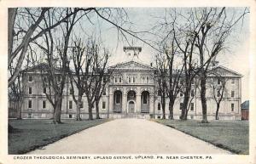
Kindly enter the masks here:
<path id="1" fill-rule="evenodd" d="M 231 154 L 144 119 L 118 119 L 75 133 L 29 154 Z"/>

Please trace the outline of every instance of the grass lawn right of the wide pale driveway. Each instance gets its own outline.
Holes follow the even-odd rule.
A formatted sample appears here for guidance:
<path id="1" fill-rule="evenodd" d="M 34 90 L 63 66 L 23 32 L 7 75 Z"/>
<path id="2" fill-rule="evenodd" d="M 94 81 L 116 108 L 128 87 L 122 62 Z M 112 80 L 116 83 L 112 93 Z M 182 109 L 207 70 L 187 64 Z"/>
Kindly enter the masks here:
<path id="1" fill-rule="evenodd" d="M 249 154 L 249 123 L 247 121 L 154 120 L 195 138 L 202 139 L 233 153 Z"/>

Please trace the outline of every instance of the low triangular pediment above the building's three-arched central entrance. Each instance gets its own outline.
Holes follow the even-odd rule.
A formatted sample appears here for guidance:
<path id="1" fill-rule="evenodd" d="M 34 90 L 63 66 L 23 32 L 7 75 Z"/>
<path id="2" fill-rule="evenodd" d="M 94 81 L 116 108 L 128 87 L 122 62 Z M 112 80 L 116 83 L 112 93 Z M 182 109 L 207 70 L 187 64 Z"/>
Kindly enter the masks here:
<path id="1" fill-rule="evenodd" d="M 118 70 L 152 70 L 153 67 L 150 65 L 145 65 L 142 63 L 138 63 L 136 61 L 129 61 L 125 63 L 120 63 L 118 65 L 113 65 L 111 68 Z"/>

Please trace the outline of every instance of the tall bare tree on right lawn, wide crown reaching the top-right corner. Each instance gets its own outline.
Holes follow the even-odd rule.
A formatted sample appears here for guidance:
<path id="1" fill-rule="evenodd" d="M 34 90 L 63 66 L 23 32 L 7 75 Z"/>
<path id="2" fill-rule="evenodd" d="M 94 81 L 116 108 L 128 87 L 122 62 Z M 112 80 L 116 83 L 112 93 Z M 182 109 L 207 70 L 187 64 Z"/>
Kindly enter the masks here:
<path id="1" fill-rule="evenodd" d="M 202 122 L 207 121 L 207 71 L 210 64 L 226 48 L 226 43 L 235 25 L 247 14 L 247 8 L 237 17 L 226 13 L 226 8 L 201 8 L 193 12 L 197 30 L 195 47 L 199 53 L 199 76 L 201 82 Z M 200 14 L 201 16 L 198 16 Z"/>

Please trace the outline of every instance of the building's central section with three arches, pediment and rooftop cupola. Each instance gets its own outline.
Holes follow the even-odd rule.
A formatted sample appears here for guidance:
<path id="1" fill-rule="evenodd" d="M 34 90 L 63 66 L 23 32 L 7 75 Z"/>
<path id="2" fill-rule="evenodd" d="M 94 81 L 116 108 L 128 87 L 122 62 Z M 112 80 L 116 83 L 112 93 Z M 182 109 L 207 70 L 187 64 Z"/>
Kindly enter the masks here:
<path id="1" fill-rule="evenodd" d="M 123 114 L 149 114 L 154 109 L 154 68 L 139 61 L 139 47 L 125 47 L 128 61 L 113 65 L 108 84 L 109 110 Z M 150 112 L 151 113 L 151 112 Z"/>

